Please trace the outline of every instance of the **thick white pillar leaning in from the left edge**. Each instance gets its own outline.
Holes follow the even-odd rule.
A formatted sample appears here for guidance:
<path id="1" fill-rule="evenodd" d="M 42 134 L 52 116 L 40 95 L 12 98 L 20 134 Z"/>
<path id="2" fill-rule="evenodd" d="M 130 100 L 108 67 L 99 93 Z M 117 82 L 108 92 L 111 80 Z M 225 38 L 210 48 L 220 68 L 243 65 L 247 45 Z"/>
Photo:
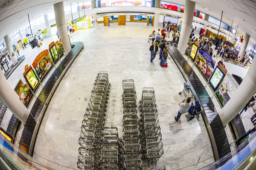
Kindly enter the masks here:
<path id="1" fill-rule="evenodd" d="M 8 84 L 2 71 L 0 71 L 0 98 L 17 119 L 25 124 L 29 116 L 29 110 L 23 105 L 17 94 L 15 94 L 14 90 Z"/>

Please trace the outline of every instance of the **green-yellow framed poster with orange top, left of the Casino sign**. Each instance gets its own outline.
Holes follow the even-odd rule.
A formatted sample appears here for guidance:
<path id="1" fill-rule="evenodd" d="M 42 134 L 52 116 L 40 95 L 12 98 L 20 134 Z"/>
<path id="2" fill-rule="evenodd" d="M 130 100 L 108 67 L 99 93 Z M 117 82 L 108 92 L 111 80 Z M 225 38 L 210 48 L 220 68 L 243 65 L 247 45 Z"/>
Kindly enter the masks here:
<path id="1" fill-rule="evenodd" d="M 29 83 L 30 88 L 34 90 L 38 85 L 38 79 L 35 76 L 35 72 L 33 71 L 32 67 L 28 65 L 25 66 L 25 72 L 23 73 L 24 78 Z"/>

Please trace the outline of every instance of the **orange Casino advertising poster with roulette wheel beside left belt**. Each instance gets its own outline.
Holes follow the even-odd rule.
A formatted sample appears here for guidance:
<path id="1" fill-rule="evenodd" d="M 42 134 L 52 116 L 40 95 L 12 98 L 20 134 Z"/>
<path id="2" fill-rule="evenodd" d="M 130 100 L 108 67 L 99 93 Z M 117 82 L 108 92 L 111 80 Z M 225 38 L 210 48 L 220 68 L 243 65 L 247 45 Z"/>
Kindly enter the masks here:
<path id="1" fill-rule="evenodd" d="M 46 74 L 52 66 L 52 59 L 50 57 L 49 51 L 44 50 L 38 54 L 38 56 L 35 57 L 32 66 L 35 69 L 35 73 L 38 75 L 39 79 L 44 77 L 44 74 Z"/>

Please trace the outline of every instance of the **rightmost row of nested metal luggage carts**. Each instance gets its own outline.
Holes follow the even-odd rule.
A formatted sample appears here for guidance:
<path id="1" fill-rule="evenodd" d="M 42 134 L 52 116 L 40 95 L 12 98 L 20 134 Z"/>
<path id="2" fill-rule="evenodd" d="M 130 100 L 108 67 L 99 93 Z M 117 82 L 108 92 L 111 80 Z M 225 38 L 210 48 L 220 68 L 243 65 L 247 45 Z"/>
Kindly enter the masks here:
<path id="1" fill-rule="evenodd" d="M 164 166 L 157 166 L 158 159 L 163 155 L 163 143 L 155 102 L 154 88 L 143 88 L 140 100 L 142 153 L 147 170 L 165 170 Z"/>

